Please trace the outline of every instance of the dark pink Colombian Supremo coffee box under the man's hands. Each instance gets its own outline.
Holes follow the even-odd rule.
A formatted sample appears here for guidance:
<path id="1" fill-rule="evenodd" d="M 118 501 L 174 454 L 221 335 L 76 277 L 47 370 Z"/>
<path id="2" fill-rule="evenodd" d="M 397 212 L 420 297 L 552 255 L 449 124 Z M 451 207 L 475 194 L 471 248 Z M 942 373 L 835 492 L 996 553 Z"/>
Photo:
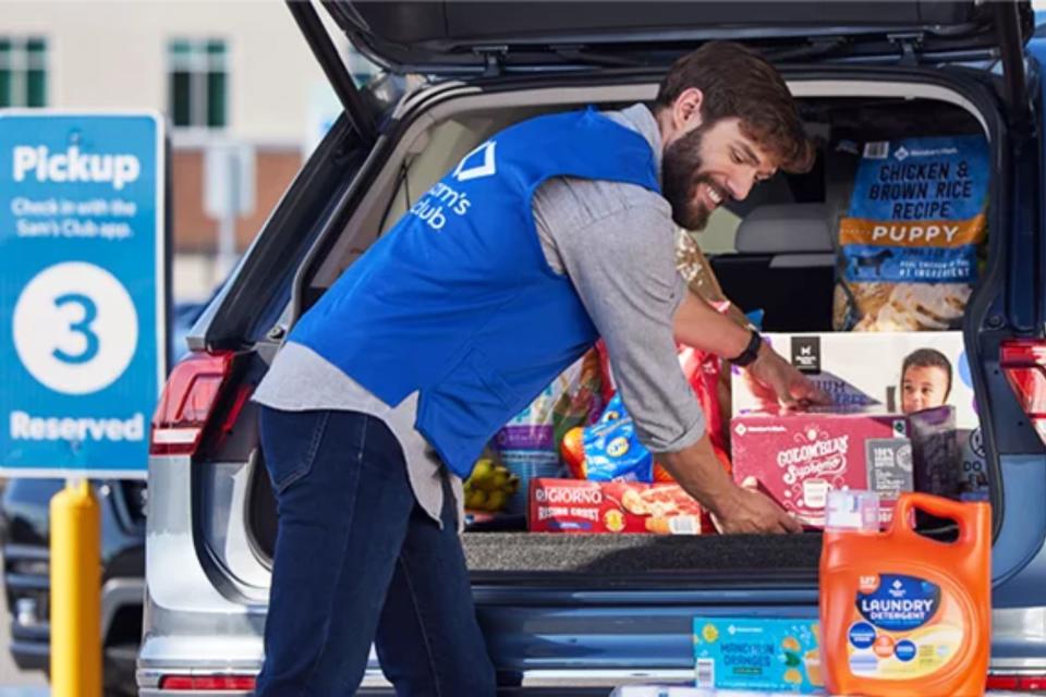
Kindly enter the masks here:
<path id="1" fill-rule="evenodd" d="M 888 523 L 902 491 L 912 490 L 912 447 L 899 414 L 752 413 L 731 421 L 733 476 L 754 478 L 808 527 L 824 527 L 832 489 L 879 493 Z"/>

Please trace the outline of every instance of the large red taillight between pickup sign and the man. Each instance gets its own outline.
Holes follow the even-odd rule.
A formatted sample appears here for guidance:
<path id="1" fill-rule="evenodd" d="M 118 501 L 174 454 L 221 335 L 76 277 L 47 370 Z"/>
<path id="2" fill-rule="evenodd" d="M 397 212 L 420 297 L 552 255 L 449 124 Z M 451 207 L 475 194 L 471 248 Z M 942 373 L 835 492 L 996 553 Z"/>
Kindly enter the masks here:
<path id="1" fill-rule="evenodd" d="M 174 366 L 153 416 L 150 455 L 192 454 L 199 445 L 232 353 L 193 353 Z"/>

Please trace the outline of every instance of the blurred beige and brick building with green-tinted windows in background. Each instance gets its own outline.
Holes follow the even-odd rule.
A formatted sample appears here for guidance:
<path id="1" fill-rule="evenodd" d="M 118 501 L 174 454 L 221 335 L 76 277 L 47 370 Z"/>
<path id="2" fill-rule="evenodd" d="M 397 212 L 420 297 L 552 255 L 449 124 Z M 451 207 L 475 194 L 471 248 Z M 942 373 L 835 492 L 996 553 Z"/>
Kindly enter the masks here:
<path id="1" fill-rule="evenodd" d="M 374 68 L 319 13 L 366 81 Z M 167 115 L 179 301 L 209 295 L 340 112 L 275 0 L 0 1 L 0 107 Z M 215 204 L 233 199 L 245 210 L 222 220 Z"/>

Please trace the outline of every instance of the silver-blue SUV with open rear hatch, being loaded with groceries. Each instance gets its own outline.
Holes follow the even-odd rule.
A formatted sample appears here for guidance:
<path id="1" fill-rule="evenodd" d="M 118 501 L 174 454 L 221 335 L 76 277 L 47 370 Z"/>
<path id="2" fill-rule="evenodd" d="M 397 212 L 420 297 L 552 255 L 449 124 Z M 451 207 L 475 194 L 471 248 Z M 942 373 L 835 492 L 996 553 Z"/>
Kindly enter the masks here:
<path id="1" fill-rule="evenodd" d="M 995 516 L 992 680 L 1046 684 L 1037 682 L 1046 675 L 1043 109 L 1027 2 L 323 4 L 388 74 L 357 89 L 313 8 L 289 3 L 344 113 L 197 322 L 157 409 L 143 696 L 245 695 L 254 685 L 276 513 L 250 396 L 295 318 L 490 134 L 538 113 L 649 100 L 670 62 L 709 38 L 746 41 L 778 63 L 824 144 L 811 173 L 779 175 L 733 208 L 742 232 L 753 207 L 820 204 L 829 216 L 844 206 L 852 171 L 831 147 L 840 139 L 987 136 L 990 242 L 964 338 Z M 726 289 L 759 304 L 751 309 L 826 302 L 832 249 L 793 255 L 791 285 L 758 271 L 778 268 L 783 252 L 745 248 L 713 265 L 754 269 Z M 827 331 L 826 315 L 791 311 L 787 329 Z M 503 695 L 692 682 L 695 615 L 817 612 L 816 534 L 473 528 L 464 546 Z M 363 694 L 391 694 L 374 661 Z"/>

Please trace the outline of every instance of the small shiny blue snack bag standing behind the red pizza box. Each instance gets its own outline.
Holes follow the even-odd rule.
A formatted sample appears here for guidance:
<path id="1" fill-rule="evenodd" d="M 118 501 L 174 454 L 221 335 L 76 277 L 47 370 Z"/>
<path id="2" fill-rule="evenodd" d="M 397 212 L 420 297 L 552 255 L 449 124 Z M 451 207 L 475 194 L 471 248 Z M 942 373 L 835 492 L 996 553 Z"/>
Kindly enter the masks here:
<path id="1" fill-rule="evenodd" d="M 654 480 L 654 457 L 636 438 L 620 395 L 607 403 L 596 424 L 585 428 L 584 444 L 588 480 Z"/>

